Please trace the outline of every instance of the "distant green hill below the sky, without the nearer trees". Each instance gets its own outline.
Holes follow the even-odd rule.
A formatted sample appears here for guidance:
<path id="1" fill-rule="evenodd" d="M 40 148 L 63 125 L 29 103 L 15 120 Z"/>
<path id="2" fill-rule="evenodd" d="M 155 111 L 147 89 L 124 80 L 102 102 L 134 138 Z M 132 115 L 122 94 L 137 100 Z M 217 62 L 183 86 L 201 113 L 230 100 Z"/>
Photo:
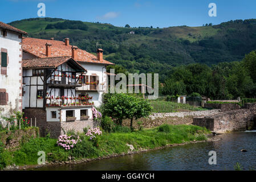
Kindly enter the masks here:
<path id="1" fill-rule="evenodd" d="M 160 73 L 161 81 L 177 65 L 240 61 L 256 49 L 256 19 L 168 28 L 124 28 L 59 18 L 32 18 L 10 24 L 33 38 L 70 38 L 71 44 L 91 53 L 101 47 L 105 59 L 130 72 Z M 135 34 L 129 34 L 131 31 Z"/>

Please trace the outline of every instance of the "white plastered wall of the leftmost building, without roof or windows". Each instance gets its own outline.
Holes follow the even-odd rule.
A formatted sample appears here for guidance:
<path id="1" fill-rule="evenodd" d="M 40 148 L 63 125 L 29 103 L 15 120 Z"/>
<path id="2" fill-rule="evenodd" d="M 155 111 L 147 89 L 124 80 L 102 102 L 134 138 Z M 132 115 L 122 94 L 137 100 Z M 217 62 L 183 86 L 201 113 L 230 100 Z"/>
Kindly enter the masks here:
<path id="1" fill-rule="evenodd" d="M 22 39 L 19 35 L 21 34 L 8 30 L 6 37 L 0 34 L 0 49 L 7 49 L 7 57 L 9 57 L 7 75 L 0 74 L 0 89 L 6 89 L 9 96 L 7 105 L 0 106 L 0 115 L 5 117 L 10 117 L 14 111 L 22 111 L 22 96 L 20 96 L 22 94 L 22 47 L 20 44 Z M 0 118 L 0 121 L 6 125 L 3 119 Z"/>

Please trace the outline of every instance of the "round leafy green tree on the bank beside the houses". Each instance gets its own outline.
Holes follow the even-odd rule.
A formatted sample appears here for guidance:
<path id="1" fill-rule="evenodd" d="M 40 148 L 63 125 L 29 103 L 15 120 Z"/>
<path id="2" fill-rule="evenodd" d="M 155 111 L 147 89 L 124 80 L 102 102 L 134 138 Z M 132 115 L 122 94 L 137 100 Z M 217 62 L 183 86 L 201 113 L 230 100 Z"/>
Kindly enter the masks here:
<path id="1" fill-rule="evenodd" d="M 151 114 L 152 107 L 144 98 L 133 94 L 111 94 L 105 101 L 103 113 L 112 117 L 118 125 L 123 124 L 124 119 L 131 119 L 130 127 L 132 129 L 133 118 L 148 117 Z"/>

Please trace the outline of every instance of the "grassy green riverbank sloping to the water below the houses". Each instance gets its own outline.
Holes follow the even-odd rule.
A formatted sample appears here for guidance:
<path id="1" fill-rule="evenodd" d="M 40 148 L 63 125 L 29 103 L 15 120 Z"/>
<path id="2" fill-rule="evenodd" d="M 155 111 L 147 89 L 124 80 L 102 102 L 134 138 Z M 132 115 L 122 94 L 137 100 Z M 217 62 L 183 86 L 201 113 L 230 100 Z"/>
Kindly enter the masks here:
<path id="1" fill-rule="evenodd" d="M 56 146 L 56 140 L 50 138 L 31 139 L 14 152 L 6 152 L 9 162 L 16 164 L 10 169 L 28 169 L 38 167 L 38 151 L 44 151 L 47 165 L 76 164 L 91 160 L 107 159 L 127 154 L 137 154 L 167 146 L 176 146 L 190 142 L 206 141 L 210 133 L 202 127 L 193 125 L 163 125 L 154 129 L 128 133 L 104 133 L 94 142 L 83 138 L 76 147 L 70 151 Z M 9 166 L 13 166 L 9 164 Z M 20 166 L 20 167 L 18 167 Z"/>

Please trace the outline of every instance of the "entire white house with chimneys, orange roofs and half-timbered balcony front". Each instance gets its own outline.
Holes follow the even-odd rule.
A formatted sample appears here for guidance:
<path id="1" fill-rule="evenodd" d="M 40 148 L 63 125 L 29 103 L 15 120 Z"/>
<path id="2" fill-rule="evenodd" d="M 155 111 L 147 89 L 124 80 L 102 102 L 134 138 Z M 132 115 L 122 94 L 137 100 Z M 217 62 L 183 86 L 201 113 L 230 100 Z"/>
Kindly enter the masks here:
<path id="1" fill-rule="evenodd" d="M 106 66 L 113 64 L 103 60 L 103 50 L 97 49 L 96 57 L 71 46 L 69 39 L 23 38 L 22 47 L 23 111 L 28 118 L 36 116 L 41 134 L 48 130 L 58 137 L 63 130 L 94 127 L 92 106 L 101 105 Z"/>

